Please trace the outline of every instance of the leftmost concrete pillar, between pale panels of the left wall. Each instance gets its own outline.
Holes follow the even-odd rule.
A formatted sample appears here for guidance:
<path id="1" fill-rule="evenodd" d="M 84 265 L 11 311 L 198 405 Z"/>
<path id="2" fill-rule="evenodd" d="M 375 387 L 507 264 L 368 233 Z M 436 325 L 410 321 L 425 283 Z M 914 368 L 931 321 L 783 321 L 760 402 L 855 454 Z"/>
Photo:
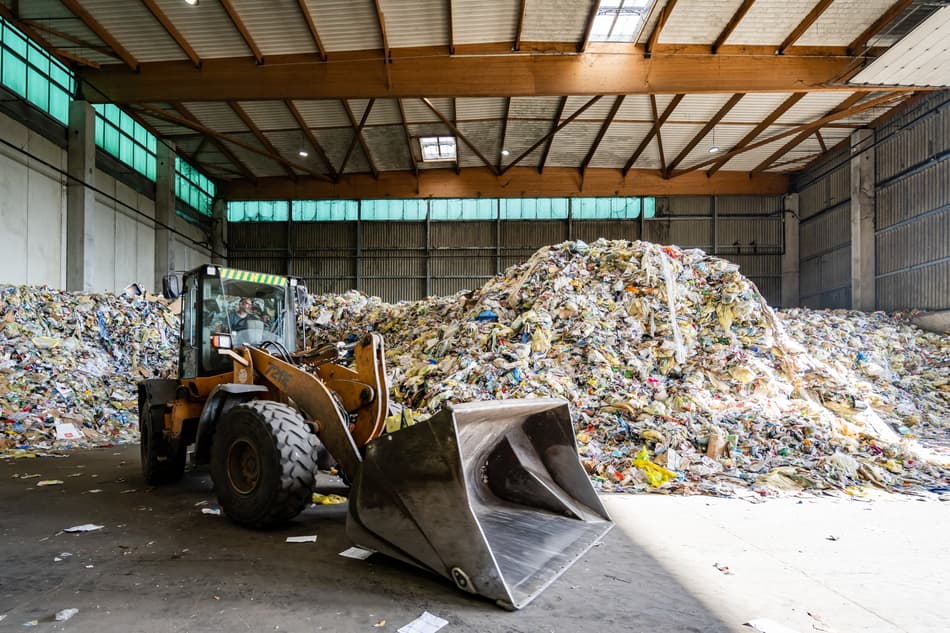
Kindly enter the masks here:
<path id="1" fill-rule="evenodd" d="M 92 221 L 96 193 L 96 113 L 85 101 L 69 104 L 66 151 L 66 290 L 93 290 Z M 90 185 L 90 186 L 87 186 Z"/>

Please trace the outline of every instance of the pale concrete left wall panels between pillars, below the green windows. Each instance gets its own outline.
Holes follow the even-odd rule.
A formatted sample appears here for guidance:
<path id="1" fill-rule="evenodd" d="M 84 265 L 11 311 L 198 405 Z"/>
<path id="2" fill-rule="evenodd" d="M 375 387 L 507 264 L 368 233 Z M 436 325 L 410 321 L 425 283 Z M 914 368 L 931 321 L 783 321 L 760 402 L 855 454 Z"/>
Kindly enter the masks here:
<path id="1" fill-rule="evenodd" d="M 66 150 L 15 119 L 0 114 L 0 283 L 66 287 Z M 35 157 L 35 158 L 33 158 Z M 37 160 L 39 159 L 39 160 Z M 49 163 L 53 167 L 44 165 Z M 93 291 L 117 292 L 138 283 L 154 288 L 155 203 L 121 180 L 96 170 L 92 225 Z M 207 238 L 176 217 L 176 264 L 182 270 L 210 261 Z"/>

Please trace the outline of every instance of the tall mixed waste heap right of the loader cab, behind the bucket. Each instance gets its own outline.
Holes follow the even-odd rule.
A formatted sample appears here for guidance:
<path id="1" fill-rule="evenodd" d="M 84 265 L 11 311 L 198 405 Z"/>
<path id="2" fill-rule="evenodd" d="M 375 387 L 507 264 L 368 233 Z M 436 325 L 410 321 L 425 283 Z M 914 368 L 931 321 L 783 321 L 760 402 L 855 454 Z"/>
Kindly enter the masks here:
<path id="1" fill-rule="evenodd" d="M 318 297 L 312 342 L 383 334 L 394 398 L 561 397 L 603 490 L 950 489 L 950 338 L 880 313 L 777 315 L 738 267 L 645 242 L 566 242 L 479 290 Z"/>

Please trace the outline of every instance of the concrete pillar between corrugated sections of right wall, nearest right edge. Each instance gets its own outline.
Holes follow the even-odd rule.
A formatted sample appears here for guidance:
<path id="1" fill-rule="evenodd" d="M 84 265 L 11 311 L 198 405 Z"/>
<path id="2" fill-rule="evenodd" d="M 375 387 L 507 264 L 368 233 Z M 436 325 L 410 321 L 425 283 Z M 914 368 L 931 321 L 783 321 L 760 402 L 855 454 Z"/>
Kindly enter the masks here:
<path id="1" fill-rule="evenodd" d="M 851 134 L 851 308 L 877 306 L 874 273 L 874 130 Z"/>

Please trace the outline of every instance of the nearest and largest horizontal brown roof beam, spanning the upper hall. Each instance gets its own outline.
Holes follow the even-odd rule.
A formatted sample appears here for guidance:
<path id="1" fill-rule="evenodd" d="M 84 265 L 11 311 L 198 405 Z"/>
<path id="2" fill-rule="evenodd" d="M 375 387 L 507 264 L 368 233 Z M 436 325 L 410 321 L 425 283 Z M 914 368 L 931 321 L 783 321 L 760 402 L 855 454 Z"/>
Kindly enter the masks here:
<path id="1" fill-rule="evenodd" d="M 143 66 L 141 73 L 114 65 L 86 71 L 95 92 L 118 104 L 165 101 L 369 99 L 621 95 L 674 93 L 803 92 L 861 90 L 837 78 L 852 58 L 798 55 L 441 55 L 386 64 L 357 57 L 332 64 L 288 58 L 294 63 L 255 65 L 248 59 L 206 59 Z M 235 82 L 241 77 L 241 82 Z M 301 81 L 306 77 L 307 81 Z M 919 88 L 916 88 L 919 90 Z M 915 88 L 895 88 L 913 91 Z M 87 90 L 87 94 L 93 93 Z M 434 94 L 430 94 L 434 93 Z"/>

